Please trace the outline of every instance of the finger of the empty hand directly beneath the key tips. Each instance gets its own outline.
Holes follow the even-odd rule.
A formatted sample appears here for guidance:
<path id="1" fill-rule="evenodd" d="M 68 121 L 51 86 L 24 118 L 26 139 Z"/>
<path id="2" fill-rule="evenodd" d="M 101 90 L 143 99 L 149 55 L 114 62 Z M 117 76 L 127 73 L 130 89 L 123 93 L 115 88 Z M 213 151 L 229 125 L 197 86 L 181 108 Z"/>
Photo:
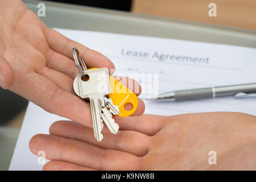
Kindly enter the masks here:
<path id="1" fill-rule="evenodd" d="M 104 139 L 97 142 L 94 129 L 72 121 L 57 121 L 50 127 L 50 134 L 89 143 L 100 148 L 129 152 L 144 156 L 148 152 L 150 137 L 135 131 L 119 130 L 116 135 L 103 132 Z"/>

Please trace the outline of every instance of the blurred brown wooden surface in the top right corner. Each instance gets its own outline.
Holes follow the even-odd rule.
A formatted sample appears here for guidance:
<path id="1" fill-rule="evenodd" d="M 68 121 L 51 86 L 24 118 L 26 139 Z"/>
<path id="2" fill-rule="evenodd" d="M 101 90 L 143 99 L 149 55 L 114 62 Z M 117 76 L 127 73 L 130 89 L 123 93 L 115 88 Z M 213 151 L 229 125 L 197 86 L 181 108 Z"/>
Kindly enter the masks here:
<path id="1" fill-rule="evenodd" d="M 216 3 L 217 17 L 208 15 Z M 256 30 L 256 0 L 133 0 L 134 13 Z"/>

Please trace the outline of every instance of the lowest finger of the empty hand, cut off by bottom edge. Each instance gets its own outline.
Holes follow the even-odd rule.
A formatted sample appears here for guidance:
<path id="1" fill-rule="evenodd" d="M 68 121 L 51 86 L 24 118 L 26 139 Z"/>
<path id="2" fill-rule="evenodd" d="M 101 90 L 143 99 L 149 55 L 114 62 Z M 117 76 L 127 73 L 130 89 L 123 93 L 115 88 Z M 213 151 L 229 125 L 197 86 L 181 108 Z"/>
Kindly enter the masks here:
<path id="1" fill-rule="evenodd" d="M 43 166 L 43 171 L 94 171 L 95 169 L 91 169 L 88 167 L 79 166 L 76 164 L 59 161 L 59 160 L 51 160 Z"/>

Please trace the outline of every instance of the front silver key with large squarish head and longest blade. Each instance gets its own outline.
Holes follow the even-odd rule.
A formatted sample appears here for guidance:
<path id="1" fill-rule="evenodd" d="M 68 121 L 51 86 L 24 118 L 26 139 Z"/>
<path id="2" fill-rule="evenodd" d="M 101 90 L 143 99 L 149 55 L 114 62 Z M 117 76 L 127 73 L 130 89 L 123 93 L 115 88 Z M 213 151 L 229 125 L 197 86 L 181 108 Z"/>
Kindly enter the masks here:
<path id="1" fill-rule="evenodd" d="M 111 92 L 108 69 L 87 70 L 84 71 L 84 75 L 88 80 L 81 73 L 78 73 L 74 80 L 74 90 L 79 97 L 90 99 L 94 135 L 97 141 L 100 142 L 103 139 L 101 134 L 103 129 L 101 110 L 105 106 L 104 97 Z"/>

